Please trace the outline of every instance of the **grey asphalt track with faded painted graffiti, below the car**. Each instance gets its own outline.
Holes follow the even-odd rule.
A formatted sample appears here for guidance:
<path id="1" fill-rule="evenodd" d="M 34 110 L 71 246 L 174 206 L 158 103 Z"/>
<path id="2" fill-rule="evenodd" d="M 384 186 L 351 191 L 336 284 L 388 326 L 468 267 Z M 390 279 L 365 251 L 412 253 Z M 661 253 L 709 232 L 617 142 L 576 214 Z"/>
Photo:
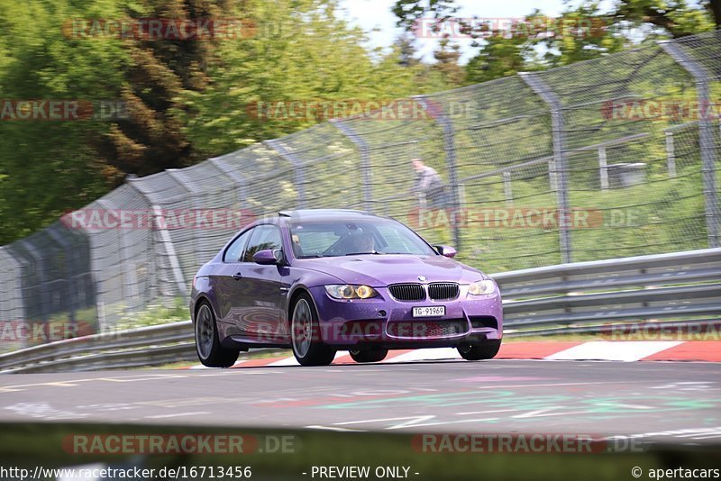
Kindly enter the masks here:
<path id="1" fill-rule="evenodd" d="M 436 361 L 0 377 L 0 422 L 721 440 L 721 364 Z"/>

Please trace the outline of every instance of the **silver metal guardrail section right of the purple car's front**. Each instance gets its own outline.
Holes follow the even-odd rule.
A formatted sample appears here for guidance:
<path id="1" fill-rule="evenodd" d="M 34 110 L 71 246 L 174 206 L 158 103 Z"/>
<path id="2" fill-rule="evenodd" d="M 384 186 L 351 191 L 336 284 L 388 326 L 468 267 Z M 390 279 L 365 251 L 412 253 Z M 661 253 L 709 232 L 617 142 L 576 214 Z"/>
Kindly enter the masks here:
<path id="1" fill-rule="evenodd" d="M 504 325 L 721 315 L 721 249 L 577 262 L 496 274 Z"/>

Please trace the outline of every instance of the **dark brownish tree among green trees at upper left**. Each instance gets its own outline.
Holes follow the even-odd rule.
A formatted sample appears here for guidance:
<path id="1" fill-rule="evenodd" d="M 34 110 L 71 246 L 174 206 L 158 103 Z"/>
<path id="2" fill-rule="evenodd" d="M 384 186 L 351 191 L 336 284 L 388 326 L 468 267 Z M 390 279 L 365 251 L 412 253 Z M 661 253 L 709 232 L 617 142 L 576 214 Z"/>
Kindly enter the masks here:
<path id="1" fill-rule="evenodd" d="M 229 13 L 228 2 L 205 0 L 146 0 L 128 4 L 130 18 L 171 19 L 177 22 L 214 22 Z M 183 130 L 178 111 L 185 108 L 186 91 L 201 92 L 209 82 L 207 69 L 214 63 L 212 37 L 171 40 L 136 39 L 124 44 L 130 58 L 124 70 L 122 98 L 129 118 L 113 123 L 98 142 L 105 163 L 119 175 L 153 174 L 165 168 L 186 167 L 200 157 Z"/>

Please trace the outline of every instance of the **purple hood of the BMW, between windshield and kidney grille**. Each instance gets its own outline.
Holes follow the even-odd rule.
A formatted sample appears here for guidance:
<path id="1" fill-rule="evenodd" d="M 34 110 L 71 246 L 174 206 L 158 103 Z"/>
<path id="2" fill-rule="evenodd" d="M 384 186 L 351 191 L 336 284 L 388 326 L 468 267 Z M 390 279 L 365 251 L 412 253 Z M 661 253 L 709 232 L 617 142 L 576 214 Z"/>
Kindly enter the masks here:
<path id="1" fill-rule="evenodd" d="M 319 259 L 300 259 L 298 267 L 324 272 L 348 284 L 371 287 L 399 282 L 458 282 L 469 284 L 484 276 L 478 269 L 443 256 L 359 255 Z"/>

